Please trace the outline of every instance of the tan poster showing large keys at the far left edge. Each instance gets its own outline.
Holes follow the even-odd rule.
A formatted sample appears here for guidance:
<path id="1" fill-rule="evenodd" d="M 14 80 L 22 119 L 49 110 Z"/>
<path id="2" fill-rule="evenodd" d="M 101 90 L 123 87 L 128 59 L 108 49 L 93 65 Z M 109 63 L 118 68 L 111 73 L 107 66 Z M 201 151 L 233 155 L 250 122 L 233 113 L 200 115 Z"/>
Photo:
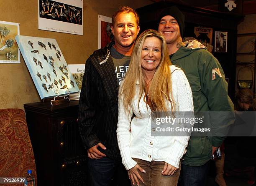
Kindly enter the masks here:
<path id="1" fill-rule="evenodd" d="M 0 21 L 0 63 L 20 63 L 16 35 L 20 35 L 19 23 Z"/>

